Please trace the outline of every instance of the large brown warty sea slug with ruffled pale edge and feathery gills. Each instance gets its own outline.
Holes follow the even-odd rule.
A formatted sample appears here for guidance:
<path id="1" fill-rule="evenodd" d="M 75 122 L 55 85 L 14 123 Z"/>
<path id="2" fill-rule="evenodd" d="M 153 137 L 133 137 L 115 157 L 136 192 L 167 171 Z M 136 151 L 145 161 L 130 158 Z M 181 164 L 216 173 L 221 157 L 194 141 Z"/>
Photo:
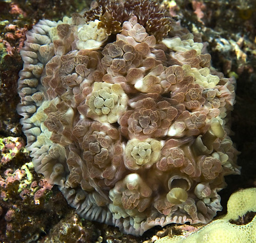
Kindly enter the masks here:
<path id="1" fill-rule="evenodd" d="M 84 218 L 141 235 L 207 223 L 224 176 L 234 81 L 154 1 L 40 20 L 20 51 L 17 111 L 35 170 Z"/>

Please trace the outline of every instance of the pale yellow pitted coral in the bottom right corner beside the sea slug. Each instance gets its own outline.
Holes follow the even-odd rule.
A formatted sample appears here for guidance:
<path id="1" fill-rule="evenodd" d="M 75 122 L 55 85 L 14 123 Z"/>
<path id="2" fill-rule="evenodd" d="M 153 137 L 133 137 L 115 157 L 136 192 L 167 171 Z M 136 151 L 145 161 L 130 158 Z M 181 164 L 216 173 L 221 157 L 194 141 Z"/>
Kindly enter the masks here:
<path id="1" fill-rule="evenodd" d="M 156 243 L 233 243 L 233 242 L 255 242 L 256 241 L 256 216 L 247 225 L 236 225 L 229 223 L 242 217 L 246 212 L 256 212 L 256 188 L 248 188 L 233 193 L 227 203 L 227 214 L 220 219 L 214 220 L 199 231 L 188 237 L 169 236 L 163 237 Z"/>

